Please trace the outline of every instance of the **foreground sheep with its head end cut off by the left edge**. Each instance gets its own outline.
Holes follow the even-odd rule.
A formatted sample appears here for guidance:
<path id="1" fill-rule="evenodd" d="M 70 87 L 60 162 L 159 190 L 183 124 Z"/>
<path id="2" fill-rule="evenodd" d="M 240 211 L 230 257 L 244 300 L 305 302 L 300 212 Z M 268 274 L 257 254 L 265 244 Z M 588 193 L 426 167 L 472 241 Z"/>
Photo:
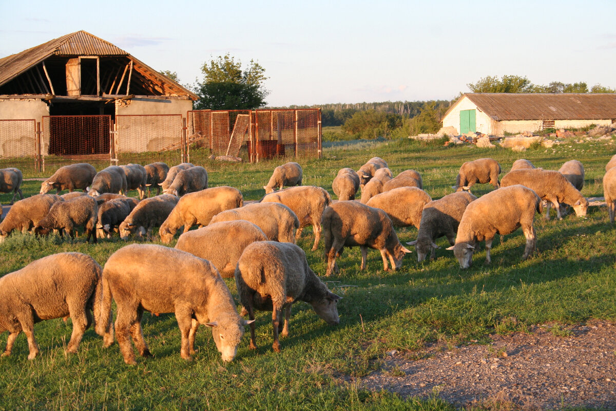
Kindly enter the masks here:
<path id="1" fill-rule="evenodd" d="M 81 253 L 52 254 L 35 260 L 20 270 L 0 278 L 0 333 L 9 332 L 2 357 L 10 356 L 15 338 L 24 332 L 28 338 L 28 359 L 39 354 L 34 324 L 42 320 L 70 316 L 73 332 L 67 353 L 75 353 L 84 332 L 92 324 L 103 337 L 105 347 L 113 344 L 113 328 L 104 321 L 102 269 L 94 259 Z M 111 311 L 111 307 L 109 307 Z"/>

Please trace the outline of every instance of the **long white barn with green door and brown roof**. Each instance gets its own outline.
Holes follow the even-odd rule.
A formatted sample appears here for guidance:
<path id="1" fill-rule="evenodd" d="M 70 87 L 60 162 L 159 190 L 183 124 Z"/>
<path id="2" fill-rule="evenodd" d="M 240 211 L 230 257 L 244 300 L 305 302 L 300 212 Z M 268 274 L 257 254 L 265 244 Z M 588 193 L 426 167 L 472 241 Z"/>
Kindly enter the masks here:
<path id="1" fill-rule="evenodd" d="M 466 93 L 443 116 L 458 134 L 503 136 L 616 123 L 616 94 Z"/>

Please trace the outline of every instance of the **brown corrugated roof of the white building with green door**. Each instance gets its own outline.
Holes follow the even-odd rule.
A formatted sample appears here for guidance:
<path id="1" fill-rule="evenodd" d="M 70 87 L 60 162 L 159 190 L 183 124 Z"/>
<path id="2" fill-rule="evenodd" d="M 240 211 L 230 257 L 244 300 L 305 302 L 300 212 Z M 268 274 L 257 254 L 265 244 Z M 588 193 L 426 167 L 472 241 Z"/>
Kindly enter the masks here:
<path id="1" fill-rule="evenodd" d="M 616 94 L 610 93 L 467 93 L 463 96 L 496 121 L 616 118 Z"/>

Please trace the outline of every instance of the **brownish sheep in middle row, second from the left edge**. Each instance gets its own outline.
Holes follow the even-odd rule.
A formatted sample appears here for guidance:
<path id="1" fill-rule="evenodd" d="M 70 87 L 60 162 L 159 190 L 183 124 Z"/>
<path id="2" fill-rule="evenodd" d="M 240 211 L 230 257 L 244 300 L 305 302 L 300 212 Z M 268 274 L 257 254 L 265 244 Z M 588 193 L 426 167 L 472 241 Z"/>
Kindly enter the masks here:
<path id="1" fill-rule="evenodd" d="M 60 237 L 63 237 L 62 229 L 70 234 L 71 239 L 75 239 L 75 227 L 84 226 L 87 235 L 86 243 L 94 237 L 92 242 L 96 243 L 96 222 L 98 220 L 99 206 L 94 198 L 81 196 L 69 201 L 59 201 L 51 206 L 45 218 L 34 226 L 36 235 L 48 235 L 53 229 L 60 230 Z"/>

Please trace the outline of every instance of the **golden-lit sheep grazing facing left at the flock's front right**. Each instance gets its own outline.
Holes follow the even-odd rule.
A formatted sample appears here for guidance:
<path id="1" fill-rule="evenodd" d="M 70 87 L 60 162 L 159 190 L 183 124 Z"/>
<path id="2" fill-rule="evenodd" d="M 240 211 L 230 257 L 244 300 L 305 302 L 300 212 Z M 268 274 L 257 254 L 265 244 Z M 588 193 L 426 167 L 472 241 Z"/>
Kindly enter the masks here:
<path id="1" fill-rule="evenodd" d="M 540 203 L 537 193 L 529 187 L 520 184 L 501 185 L 500 189 L 482 195 L 466 206 L 458 226 L 455 245 L 447 250 L 453 250 L 460 267 L 466 269 L 472 264 L 472 253 L 477 242 L 485 240 L 485 264 L 490 264 L 490 249 L 496 233 L 511 234 L 522 227 L 526 237 L 522 259 L 529 258 L 537 244 L 533 220 L 535 211 L 540 211 Z"/>

